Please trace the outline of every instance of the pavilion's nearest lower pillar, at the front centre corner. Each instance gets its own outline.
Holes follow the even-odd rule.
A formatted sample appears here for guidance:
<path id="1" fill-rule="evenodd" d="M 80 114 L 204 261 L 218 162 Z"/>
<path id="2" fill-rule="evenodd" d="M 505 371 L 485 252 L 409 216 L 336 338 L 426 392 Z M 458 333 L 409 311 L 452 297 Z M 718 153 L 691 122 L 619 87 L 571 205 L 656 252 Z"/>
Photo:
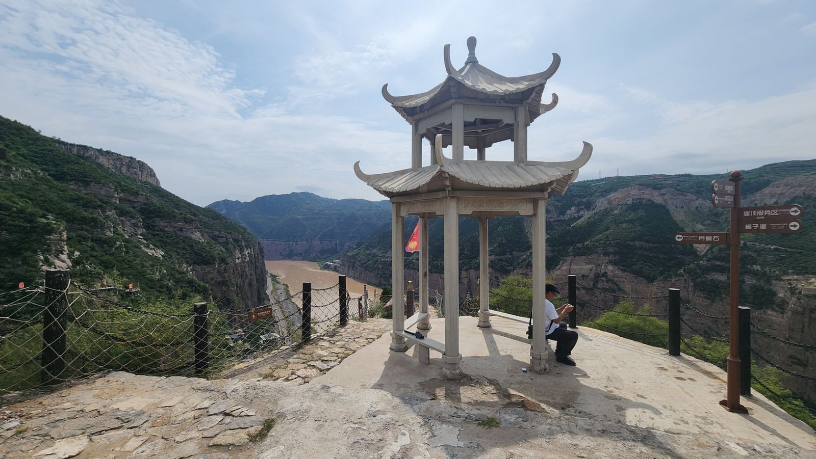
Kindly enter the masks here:
<path id="1" fill-rule="evenodd" d="M 445 199 L 445 354 L 442 374 L 459 376 L 459 210 L 455 197 Z"/>

